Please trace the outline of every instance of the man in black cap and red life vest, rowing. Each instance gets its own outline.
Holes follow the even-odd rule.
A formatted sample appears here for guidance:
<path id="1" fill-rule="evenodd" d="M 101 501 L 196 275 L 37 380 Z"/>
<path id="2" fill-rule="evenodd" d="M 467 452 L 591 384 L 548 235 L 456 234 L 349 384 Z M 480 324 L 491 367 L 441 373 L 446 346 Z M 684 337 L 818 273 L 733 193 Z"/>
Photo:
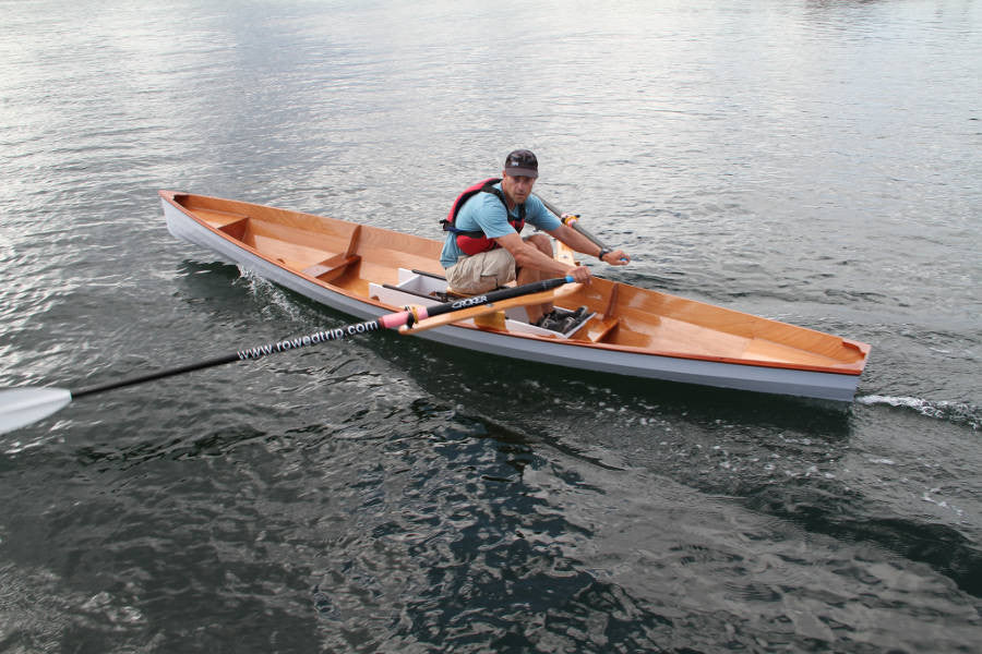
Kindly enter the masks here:
<path id="1" fill-rule="evenodd" d="M 601 250 L 549 213 L 542 201 L 531 194 L 538 177 L 536 156 L 527 149 L 517 149 L 505 158 L 500 181 L 475 184 L 457 198 L 443 221 L 450 233 L 440 254 L 450 288 L 477 294 L 513 280 L 525 284 L 565 276 L 589 283 L 589 268 L 567 266 L 553 258 L 549 237 L 536 233 L 522 238 L 519 232 L 525 222 L 576 252 L 596 256 L 612 266 L 631 261 L 621 250 Z M 529 323 L 540 324 L 553 307 L 552 303 L 535 304 L 526 306 L 526 311 Z"/>

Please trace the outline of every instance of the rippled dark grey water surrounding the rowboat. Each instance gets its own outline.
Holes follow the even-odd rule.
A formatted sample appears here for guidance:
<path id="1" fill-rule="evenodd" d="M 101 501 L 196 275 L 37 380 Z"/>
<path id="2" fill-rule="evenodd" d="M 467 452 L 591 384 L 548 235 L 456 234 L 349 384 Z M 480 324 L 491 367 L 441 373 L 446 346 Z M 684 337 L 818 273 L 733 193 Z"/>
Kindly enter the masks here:
<path id="1" fill-rule="evenodd" d="M 855 403 L 397 335 L 0 437 L 2 652 L 973 652 L 982 4 L 0 2 L 0 386 L 347 316 L 158 189 L 436 237 L 529 147 L 597 269 L 873 344 Z"/>

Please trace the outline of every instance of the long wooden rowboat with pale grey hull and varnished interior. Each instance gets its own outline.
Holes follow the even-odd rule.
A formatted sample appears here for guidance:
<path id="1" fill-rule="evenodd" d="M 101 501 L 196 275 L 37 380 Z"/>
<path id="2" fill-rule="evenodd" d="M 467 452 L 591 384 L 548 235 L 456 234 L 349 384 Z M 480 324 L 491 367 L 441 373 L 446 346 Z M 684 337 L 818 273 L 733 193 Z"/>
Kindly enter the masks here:
<path id="1" fill-rule="evenodd" d="M 160 197 L 175 237 L 344 313 L 373 318 L 445 301 L 441 241 L 231 199 Z M 529 325 L 517 306 L 419 336 L 579 370 L 846 402 L 870 353 L 865 343 L 606 279 L 571 287 L 556 306 L 586 306 L 589 318 L 566 334 Z"/>

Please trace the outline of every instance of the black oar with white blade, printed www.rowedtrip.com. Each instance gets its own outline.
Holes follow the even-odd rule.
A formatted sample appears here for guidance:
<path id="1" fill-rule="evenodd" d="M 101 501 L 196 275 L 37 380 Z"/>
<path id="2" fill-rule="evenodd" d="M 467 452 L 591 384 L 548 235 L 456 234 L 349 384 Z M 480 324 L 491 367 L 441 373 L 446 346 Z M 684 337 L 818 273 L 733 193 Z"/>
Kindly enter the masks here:
<path id="1" fill-rule="evenodd" d="M 224 356 L 206 359 L 196 363 L 166 368 L 163 371 L 157 371 L 155 373 L 141 375 L 139 377 L 130 377 L 127 379 L 109 382 L 98 386 L 82 388 L 80 390 L 69 390 L 67 388 L 52 387 L 25 387 L 0 390 L 0 434 L 5 434 L 7 432 L 11 432 L 13 429 L 37 422 L 43 417 L 51 415 L 56 411 L 65 407 L 72 400 L 81 397 L 106 392 L 108 390 L 123 388 L 127 386 L 136 386 L 137 384 L 145 384 L 146 382 L 153 382 L 155 379 L 172 377 L 175 375 L 181 375 L 184 373 L 190 373 L 192 371 L 200 371 L 202 368 L 224 365 L 226 363 L 232 363 L 235 361 L 261 359 L 270 354 L 288 352 L 290 350 L 297 350 L 307 346 L 315 346 L 326 341 L 340 340 L 351 336 L 357 336 L 359 334 L 378 331 L 380 329 L 394 329 L 404 325 L 419 324 L 414 329 L 414 331 L 422 331 L 424 329 L 430 329 L 431 327 L 438 326 L 422 325 L 421 323 L 423 323 L 428 317 L 440 316 L 444 314 L 454 314 L 453 322 L 455 322 L 458 319 L 463 319 L 460 317 L 457 317 L 457 314 L 459 314 L 460 312 L 469 311 L 470 313 L 468 313 L 466 317 L 472 317 L 474 315 L 480 315 L 482 313 L 491 313 L 502 308 L 502 301 L 515 301 L 522 303 L 522 301 L 525 300 L 523 298 L 524 295 L 528 295 L 530 298 L 526 302 L 535 303 L 538 301 L 536 300 L 536 298 L 539 294 L 549 292 L 551 296 L 552 289 L 559 288 L 564 283 L 570 283 L 572 281 L 572 277 L 546 279 L 542 281 L 526 283 L 518 287 L 502 289 L 500 291 L 491 291 L 490 293 L 476 295 L 474 298 L 464 298 L 455 302 L 445 302 L 443 304 L 436 304 L 433 306 L 406 307 L 405 311 L 386 314 L 366 323 L 355 323 L 351 325 L 346 325 L 344 327 L 335 327 L 333 329 L 315 331 L 307 336 L 289 338 L 275 343 L 247 348 L 244 350 L 239 350 L 233 354 L 226 354 Z"/>

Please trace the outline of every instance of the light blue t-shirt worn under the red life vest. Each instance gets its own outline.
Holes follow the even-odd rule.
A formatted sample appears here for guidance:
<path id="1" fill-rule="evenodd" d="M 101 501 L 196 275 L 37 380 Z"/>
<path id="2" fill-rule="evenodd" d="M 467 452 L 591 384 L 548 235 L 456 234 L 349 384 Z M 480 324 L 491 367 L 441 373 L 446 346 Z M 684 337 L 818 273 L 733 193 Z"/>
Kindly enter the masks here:
<path id="1" fill-rule="evenodd" d="M 501 182 L 494 184 L 501 189 Z M 518 219 L 518 207 L 507 211 L 514 219 Z M 505 206 L 491 193 L 476 193 L 464 203 L 454 227 L 464 231 L 482 231 L 489 239 L 499 239 L 515 233 L 515 228 L 508 222 Z M 542 201 L 535 195 L 529 195 L 525 201 L 525 222 L 537 227 L 542 231 L 552 231 L 562 225 L 562 221 L 549 213 Z M 464 252 L 457 246 L 457 234 L 446 233 L 443 243 L 443 252 L 440 253 L 440 265 L 450 268 L 457 263 L 457 258 L 464 256 Z"/>

